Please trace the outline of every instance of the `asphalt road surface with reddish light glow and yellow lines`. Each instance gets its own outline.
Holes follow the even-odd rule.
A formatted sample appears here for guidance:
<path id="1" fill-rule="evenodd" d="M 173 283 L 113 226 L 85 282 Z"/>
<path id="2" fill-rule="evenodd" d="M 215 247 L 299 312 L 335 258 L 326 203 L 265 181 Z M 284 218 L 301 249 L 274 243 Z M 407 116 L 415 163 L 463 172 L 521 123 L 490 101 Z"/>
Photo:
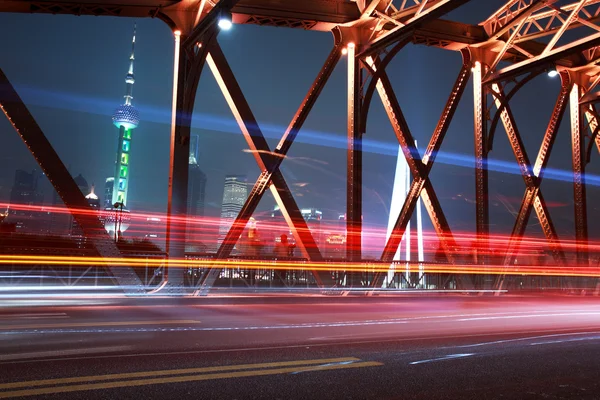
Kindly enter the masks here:
<path id="1" fill-rule="evenodd" d="M 600 299 L 3 307 L 0 371 L 0 398 L 599 399 Z"/>

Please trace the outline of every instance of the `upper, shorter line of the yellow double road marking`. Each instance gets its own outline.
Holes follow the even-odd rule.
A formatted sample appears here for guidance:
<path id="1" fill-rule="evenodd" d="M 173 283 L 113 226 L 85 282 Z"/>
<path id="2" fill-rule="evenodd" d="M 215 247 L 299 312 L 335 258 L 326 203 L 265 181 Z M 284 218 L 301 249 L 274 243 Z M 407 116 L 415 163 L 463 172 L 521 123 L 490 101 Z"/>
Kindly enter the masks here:
<path id="1" fill-rule="evenodd" d="M 217 367 L 166 369 L 166 370 L 162 370 L 162 371 L 141 371 L 141 372 L 129 372 L 129 373 L 124 373 L 124 374 L 76 376 L 76 377 L 72 377 L 72 378 L 44 379 L 44 380 L 37 380 L 37 381 L 4 383 L 4 384 L 0 384 L 0 390 L 14 389 L 14 388 L 20 388 L 20 387 L 31 387 L 31 386 L 62 385 L 65 383 L 108 381 L 108 380 L 113 380 L 113 379 L 129 379 L 129 378 L 147 378 L 147 377 L 151 377 L 151 376 L 164 376 L 164 375 L 199 374 L 199 373 L 204 373 L 204 372 L 237 371 L 237 370 L 255 369 L 255 368 L 289 367 L 289 366 L 293 366 L 293 365 L 329 364 L 329 363 L 340 363 L 340 362 L 348 362 L 348 361 L 360 361 L 360 359 L 355 358 L 355 357 L 325 358 L 325 359 L 319 359 L 319 360 L 294 360 L 294 361 L 281 361 L 281 362 L 262 363 L 262 364 L 221 365 L 221 366 L 217 366 Z"/>

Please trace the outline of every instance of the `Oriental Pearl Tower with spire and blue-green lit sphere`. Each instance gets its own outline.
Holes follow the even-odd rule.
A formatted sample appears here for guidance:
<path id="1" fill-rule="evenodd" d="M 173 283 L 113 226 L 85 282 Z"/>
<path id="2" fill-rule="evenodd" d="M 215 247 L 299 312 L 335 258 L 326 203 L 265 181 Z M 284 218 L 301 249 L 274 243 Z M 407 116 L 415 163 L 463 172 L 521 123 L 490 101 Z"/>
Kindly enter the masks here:
<path id="1" fill-rule="evenodd" d="M 133 100 L 133 62 L 135 60 L 135 25 L 133 26 L 133 40 L 131 43 L 131 55 L 129 56 L 129 71 L 125 76 L 125 102 L 115 110 L 112 120 L 119 129 L 119 140 L 117 143 L 117 159 L 115 162 L 115 173 L 107 178 L 107 184 L 112 180 L 112 199 L 107 193 L 105 199 L 106 217 L 104 227 L 107 232 L 120 235 L 129 227 L 130 216 L 127 207 L 127 191 L 129 188 L 129 153 L 131 151 L 131 131 L 140 123 L 137 109 L 131 104 Z M 116 236 L 116 235 L 115 235 Z"/>

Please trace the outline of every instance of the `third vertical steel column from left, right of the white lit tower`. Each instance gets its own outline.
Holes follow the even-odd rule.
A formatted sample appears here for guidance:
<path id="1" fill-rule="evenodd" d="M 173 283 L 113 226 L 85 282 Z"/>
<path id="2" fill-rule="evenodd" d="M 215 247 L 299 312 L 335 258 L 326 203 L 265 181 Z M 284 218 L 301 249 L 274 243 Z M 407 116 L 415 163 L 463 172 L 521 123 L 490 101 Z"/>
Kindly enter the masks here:
<path id="1" fill-rule="evenodd" d="M 488 135 L 486 90 L 481 81 L 484 66 L 476 61 L 473 65 L 473 106 L 475 126 L 475 231 L 477 233 L 477 264 L 487 263 L 485 252 L 489 249 L 490 211 L 488 204 Z M 481 254 L 484 252 L 484 254 Z M 485 285 L 490 281 L 485 277 Z"/>

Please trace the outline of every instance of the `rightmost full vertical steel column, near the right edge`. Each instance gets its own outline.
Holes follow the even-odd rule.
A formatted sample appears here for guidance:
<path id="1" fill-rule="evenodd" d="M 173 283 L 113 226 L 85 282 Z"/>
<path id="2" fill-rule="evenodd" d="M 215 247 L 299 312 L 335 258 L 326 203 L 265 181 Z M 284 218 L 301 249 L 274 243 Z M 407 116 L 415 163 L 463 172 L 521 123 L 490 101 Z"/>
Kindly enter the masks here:
<path id="1" fill-rule="evenodd" d="M 578 83 L 573 84 L 570 95 L 571 145 L 573 152 L 573 201 L 575 203 L 575 239 L 577 242 L 577 262 L 587 265 L 587 199 L 585 191 L 585 138 L 581 135 L 582 120 L 579 99 L 582 90 Z"/>

